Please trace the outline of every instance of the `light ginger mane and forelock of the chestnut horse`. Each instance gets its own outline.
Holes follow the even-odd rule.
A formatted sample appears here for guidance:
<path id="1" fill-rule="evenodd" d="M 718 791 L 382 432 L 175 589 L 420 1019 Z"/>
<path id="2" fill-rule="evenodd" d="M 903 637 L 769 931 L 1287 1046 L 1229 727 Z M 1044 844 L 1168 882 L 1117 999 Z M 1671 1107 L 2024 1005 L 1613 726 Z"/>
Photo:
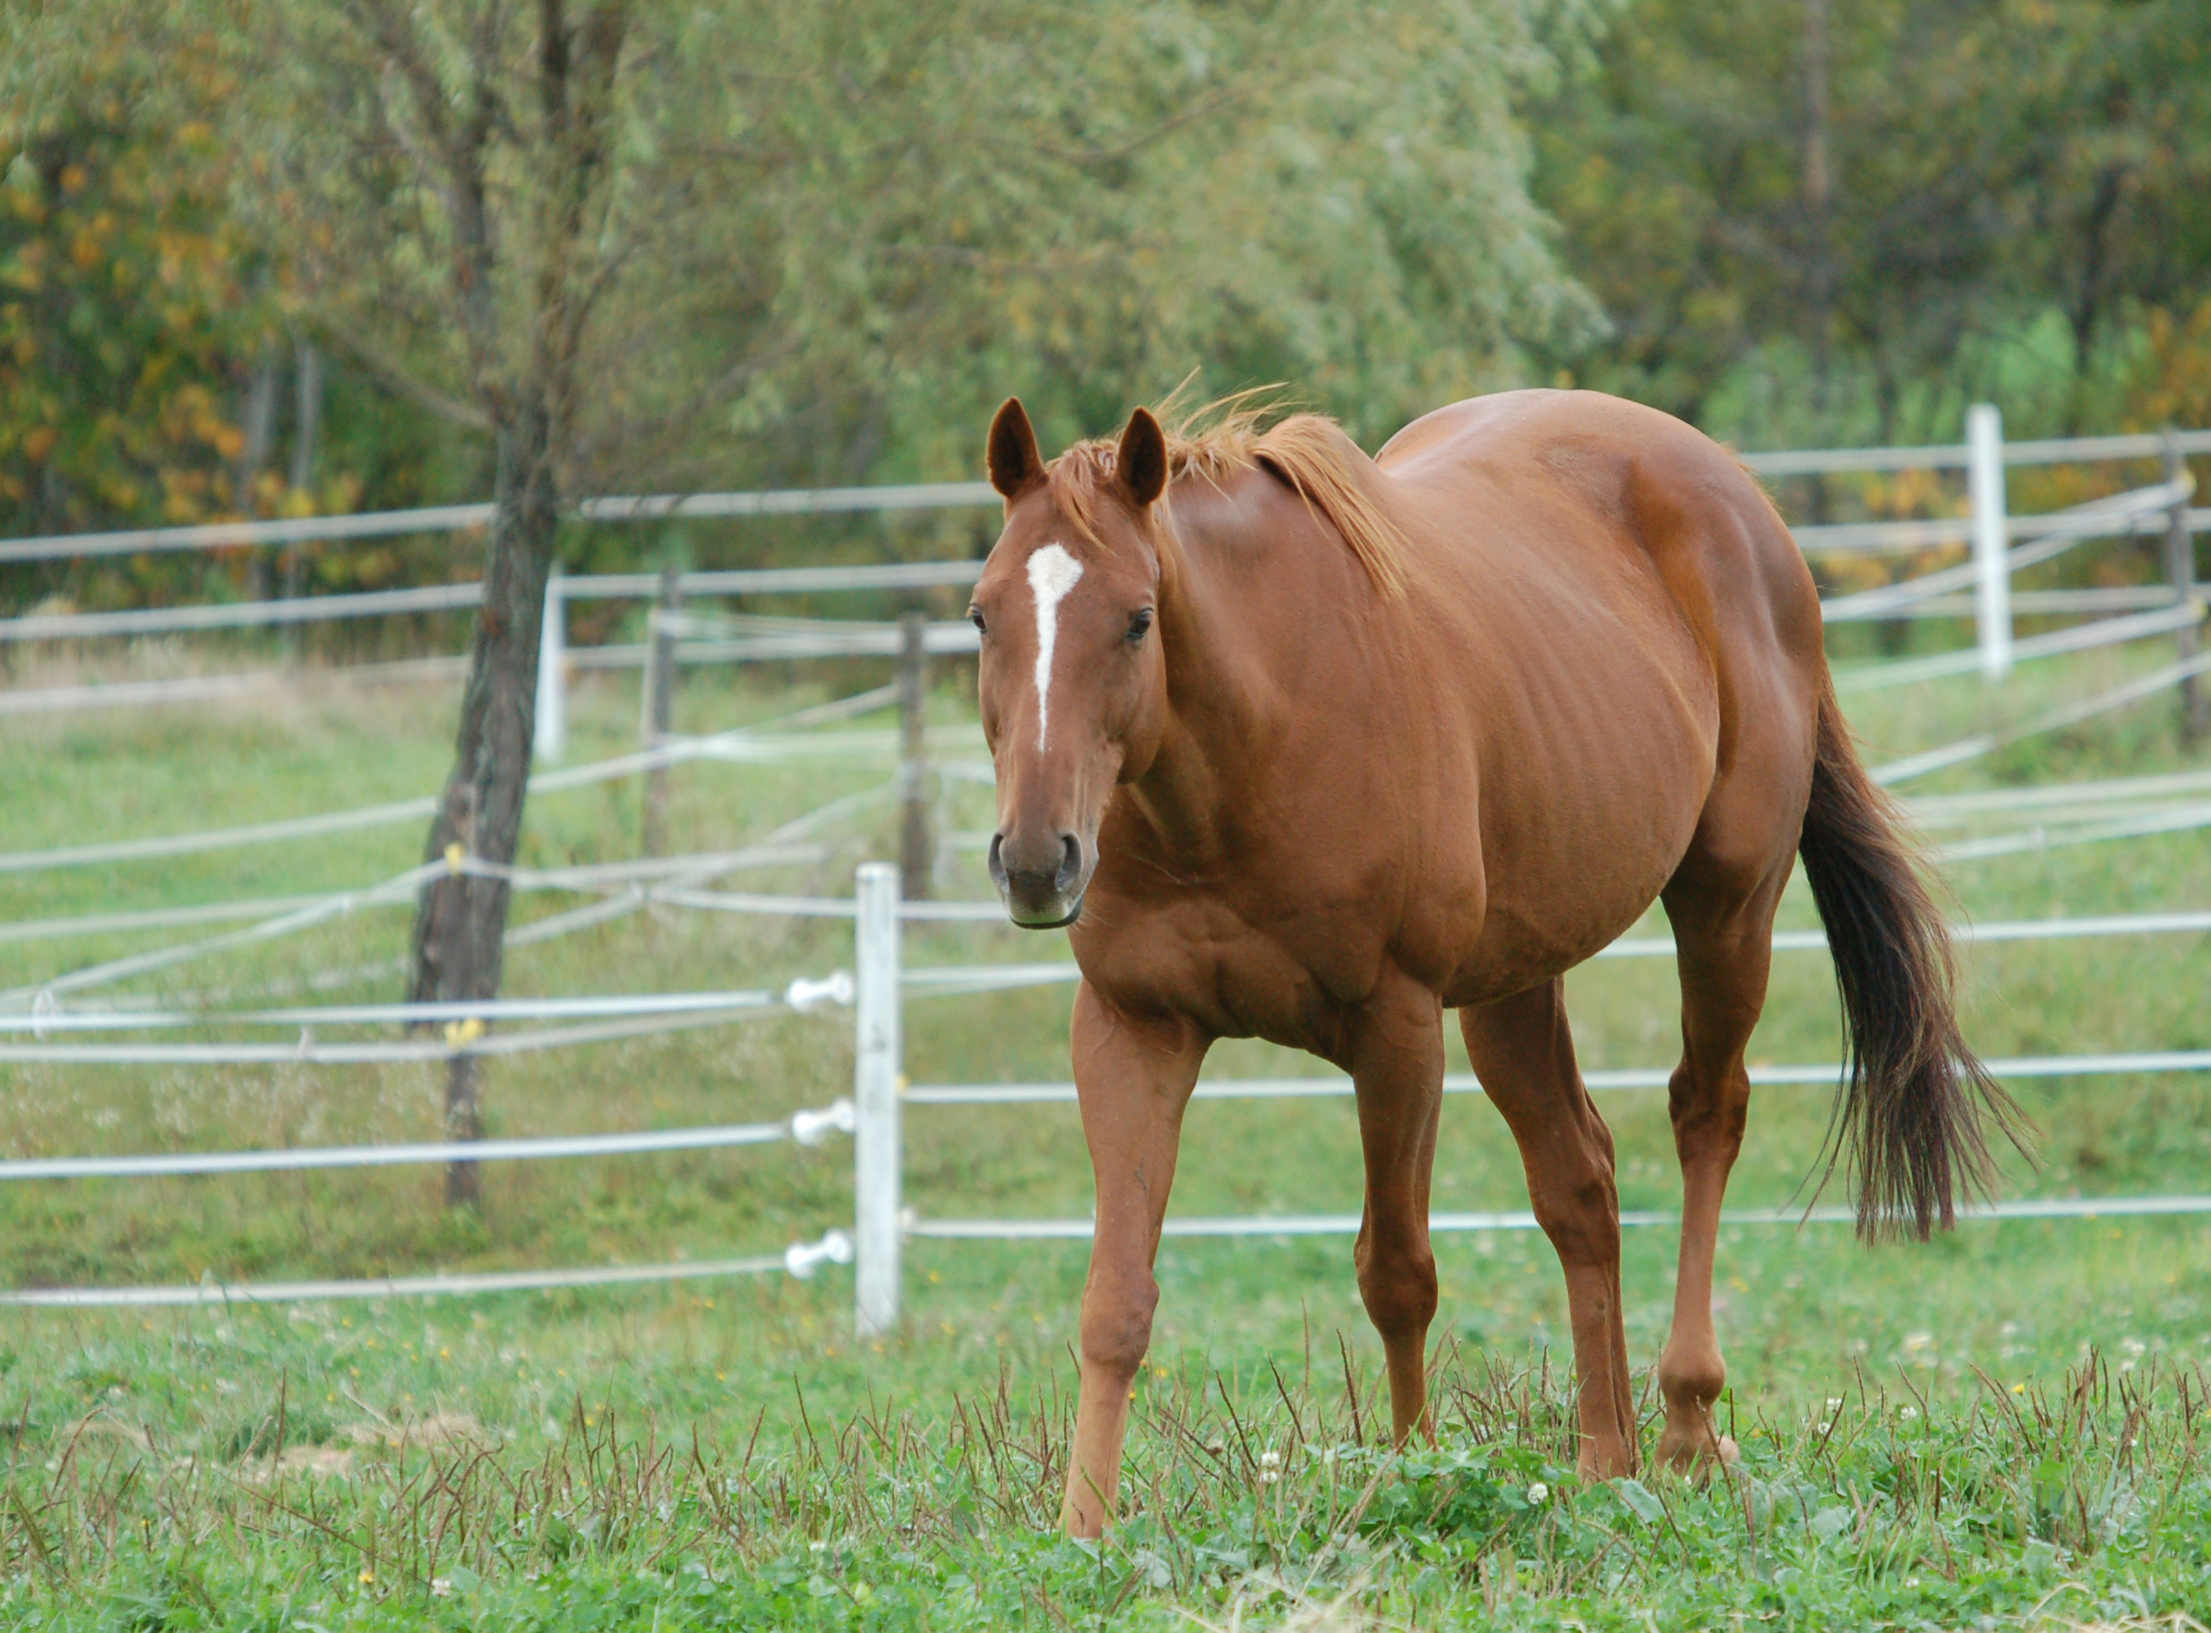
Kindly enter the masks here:
<path id="1" fill-rule="evenodd" d="M 1291 413 L 1265 424 L 1276 407 L 1265 389 L 1196 407 L 1185 407 L 1178 398 L 1181 391 L 1156 411 L 1167 433 L 1167 495 L 1161 504 L 1172 504 L 1174 484 L 1183 480 L 1220 486 L 1240 471 L 1271 471 L 1318 519 L 1342 535 L 1382 594 L 1404 592 L 1404 537 L 1371 491 L 1380 471 L 1335 420 L 1324 413 Z M 1099 546 L 1099 506 L 1114 477 L 1117 455 L 1114 440 L 1090 438 L 1070 444 L 1046 466 L 1059 513 Z"/>

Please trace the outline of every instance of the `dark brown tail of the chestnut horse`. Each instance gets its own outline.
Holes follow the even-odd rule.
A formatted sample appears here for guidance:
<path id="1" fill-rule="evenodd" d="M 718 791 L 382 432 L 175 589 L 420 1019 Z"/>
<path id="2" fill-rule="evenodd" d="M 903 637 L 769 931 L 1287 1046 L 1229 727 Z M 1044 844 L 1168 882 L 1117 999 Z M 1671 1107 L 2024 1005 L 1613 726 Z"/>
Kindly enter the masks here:
<path id="1" fill-rule="evenodd" d="M 1846 1160 L 1862 1237 L 1926 1237 L 1935 1224 L 1950 1229 L 1961 1193 L 1990 1189 L 1983 1118 L 2019 1145 L 2021 1112 L 1966 1047 L 1950 997 L 1950 928 L 1895 804 L 1857 760 L 1831 683 L 1820 692 L 1800 853 L 1835 957 L 1848 1061 L 1824 1173 Z"/>

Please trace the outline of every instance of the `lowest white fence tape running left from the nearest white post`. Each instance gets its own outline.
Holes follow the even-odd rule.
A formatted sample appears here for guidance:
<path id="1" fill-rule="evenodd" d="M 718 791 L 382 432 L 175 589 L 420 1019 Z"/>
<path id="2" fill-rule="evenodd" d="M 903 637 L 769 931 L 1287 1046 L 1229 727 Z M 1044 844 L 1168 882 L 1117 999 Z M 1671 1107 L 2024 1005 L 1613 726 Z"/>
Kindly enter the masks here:
<path id="1" fill-rule="evenodd" d="M 756 1260 L 679 1260 L 677 1264 L 604 1264 L 581 1271 L 484 1271 L 478 1275 L 391 1275 L 358 1282 L 217 1282 L 188 1286 L 15 1288 L 0 1304 L 49 1310 L 144 1310 L 166 1304 L 316 1304 L 325 1299 L 438 1299 L 484 1293 L 546 1293 L 568 1286 L 639 1286 L 727 1275 L 811 1277 L 820 1264 L 851 1264 L 851 1237 L 829 1231 L 820 1242 L 794 1242 Z"/>

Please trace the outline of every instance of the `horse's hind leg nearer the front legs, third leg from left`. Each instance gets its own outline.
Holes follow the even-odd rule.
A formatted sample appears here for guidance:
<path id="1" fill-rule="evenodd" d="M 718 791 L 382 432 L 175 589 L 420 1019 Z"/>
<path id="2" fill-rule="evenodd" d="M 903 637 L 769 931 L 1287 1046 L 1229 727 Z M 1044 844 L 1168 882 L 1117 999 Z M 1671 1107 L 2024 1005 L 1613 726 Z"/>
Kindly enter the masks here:
<path id="1" fill-rule="evenodd" d="M 1621 1317 L 1621 1193 L 1612 1129 L 1574 1063 L 1565 990 L 1548 981 L 1497 1003 L 1459 1010 L 1475 1074 L 1528 1169 L 1528 1202 L 1565 1271 L 1574 1328 L 1583 1476 L 1636 1472 L 1636 1412 Z"/>

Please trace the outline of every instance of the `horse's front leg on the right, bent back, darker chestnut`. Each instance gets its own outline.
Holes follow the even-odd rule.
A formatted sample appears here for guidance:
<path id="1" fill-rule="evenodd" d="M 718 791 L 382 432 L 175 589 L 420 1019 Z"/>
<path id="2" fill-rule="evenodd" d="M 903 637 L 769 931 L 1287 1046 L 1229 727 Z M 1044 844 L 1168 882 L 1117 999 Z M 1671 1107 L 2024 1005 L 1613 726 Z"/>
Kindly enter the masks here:
<path id="1" fill-rule="evenodd" d="M 1360 1299 L 1382 1335 L 1391 1430 L 1404 1445 L 1415 1432 L 1435 1432 L 1428 1416 L 1428 1324 L 1435 1319 L 1428 1182 L 1444 1112 L 1442 1003 L 1411 981 L 1393 983 L 1366 1005 L 1351 1043 L 1366 1158 Z"/>

